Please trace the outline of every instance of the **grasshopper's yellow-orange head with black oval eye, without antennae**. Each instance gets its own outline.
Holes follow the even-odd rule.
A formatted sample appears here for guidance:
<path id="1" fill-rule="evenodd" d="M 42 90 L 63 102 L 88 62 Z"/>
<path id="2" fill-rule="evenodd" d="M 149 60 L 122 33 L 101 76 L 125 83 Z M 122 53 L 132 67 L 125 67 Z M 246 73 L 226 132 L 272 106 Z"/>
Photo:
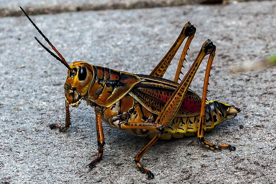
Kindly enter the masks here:
<path id="1" fill-rule="evenodd" d="M 70 65 L 64 84 L 65 100 L 73 107 L 78 107 L 86 96 L 93 79 L 93 69 L 90 64 L 77 61 Z"/>

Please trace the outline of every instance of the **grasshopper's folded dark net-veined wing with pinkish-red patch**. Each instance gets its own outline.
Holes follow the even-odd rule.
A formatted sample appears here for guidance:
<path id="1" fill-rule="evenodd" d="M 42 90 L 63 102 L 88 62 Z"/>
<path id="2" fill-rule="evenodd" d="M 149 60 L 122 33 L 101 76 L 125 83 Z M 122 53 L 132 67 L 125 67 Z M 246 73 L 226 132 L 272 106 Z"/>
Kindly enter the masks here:
<path id="1" fill-rule="evenodd" d="M 130 95 L 140 102 L 147 110 L 160 114 L 178 86 L 177 82 L 159 77 L 136 74 L 142 79 L 130 91 Z M 200 114 L 201 98 L 197 93 L 188 90 L 177 116 L 194 116 Z"/>

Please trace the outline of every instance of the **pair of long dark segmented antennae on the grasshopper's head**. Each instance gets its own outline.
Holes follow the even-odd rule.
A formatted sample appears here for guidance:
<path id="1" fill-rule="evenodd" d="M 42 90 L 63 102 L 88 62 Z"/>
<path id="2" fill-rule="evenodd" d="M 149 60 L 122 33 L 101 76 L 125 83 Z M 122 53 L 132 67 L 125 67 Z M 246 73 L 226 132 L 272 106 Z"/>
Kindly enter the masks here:
<path id="1" fill-rule="evenodd" d="M 32 21 L 32 19 L 29 17 L 29 15 L 23 10 L 21 6 L 19 8 L 23 11 L 23 13 L 26 15 L 26 17 L 29 19 L 29 21 L 32 23 L 32 25 L 35 27 L 35 29 L 39 32 L 39 34 L 45 39 L 45 41 L 52 47 L 52 49 L 58 54 L 56 56 L 55 53 L 51 52 L 48 48 L 46 48 L 36 37 L 35 40 L 38 41 L 38 43 L 47 51 L 49 52 L 52 56 L 54 56 L 57 60 L 59 60 L 66 68 L 68 68 L 70 71 L 74 71 L 70 68 L 69 64 L 66 62 L 64 57 L 59 53 L 59 51 L 56 49 L 56 47 L 53 46 L 53 44 L 50 42 L 50 40 L 40 31 L 40 29 L 35 25 L 35 23 Z"/>

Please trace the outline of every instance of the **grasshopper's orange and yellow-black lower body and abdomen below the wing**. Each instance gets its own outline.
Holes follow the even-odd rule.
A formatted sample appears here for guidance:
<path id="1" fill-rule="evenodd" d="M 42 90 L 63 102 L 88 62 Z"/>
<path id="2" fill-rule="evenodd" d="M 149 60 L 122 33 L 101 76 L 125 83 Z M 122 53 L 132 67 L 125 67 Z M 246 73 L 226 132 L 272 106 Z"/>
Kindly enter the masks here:
<path id="1" fill-rule="evenodd" d="M 210 131 L 215 125 L 223 122 L 229 107 L 230 105 L 218 101 L 206 102 L 204 131 Z M 120 128 L 120 124 L 124 122 L 154 122 L 157 118 L 157 115 L 148 111 L 130 95 L 124 96 L 109 108 L 102 107 L 102 112 L 103 121 L 114 128 L 139 137 L 155 136 L 152 131 Z M 198 122 L 199 115 L 175 117 L 173 122 L 165 127 L 160 139 L 170 140 L 193 136 L 197 133 Z"/>

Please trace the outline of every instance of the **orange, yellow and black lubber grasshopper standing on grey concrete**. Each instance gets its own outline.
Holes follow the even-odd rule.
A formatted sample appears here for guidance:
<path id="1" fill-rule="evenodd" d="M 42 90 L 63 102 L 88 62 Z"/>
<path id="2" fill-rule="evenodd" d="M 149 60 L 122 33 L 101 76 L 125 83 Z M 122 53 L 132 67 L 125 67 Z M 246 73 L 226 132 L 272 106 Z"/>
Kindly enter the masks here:
<path id="1" fill-rule="evenodd" d="M 186 60 L 185 56 L 196 32 L 191 22 L 184 25 L 173 46 L 150 75 L 142 75 L 94 66 L 83 61 L 69 65 L 25 11 L 23 9 L 22 11 L 58 56 L 35 37 L 39 44 L 68 68 L 64 85 L 65 126 L 50 124 L 49 127 L 59 128 L 60 132 L 66 131 L 71 124 L 69 105 L 78 107 L 81 100 L 91 105 L 96 113 L 98 156 L 89 164 L 90 168 L 95 167 L 103 156 L 105 142 L 101 120 L 126 133 L 152 138 L 135 157 L 136 166 L 149 178 L 154 178 L 154 175 L 148 169 L 143 168 L 140 159 L 158 139 L 169 140 L 197 134 L 198 142 L 210 150 L 220 151 L 223 147 L 230 151 L 235 150 L 235 147 L 229 144 L 217 146 L 204 139 L 204 131 L 210 131 L 215 125 L 234 118 L 241 111 L 234 105 L 216 100 L 206 101 L 210 70 L 216 50 L 211 40 L 204 42 L 194 63 L 181 82 L 177 83 L 183 61 Z M 186 37 L 187 41 L 180 56 L 174 81 L 162 78 Z M 203 94 L 200 98 L 189 89 L 189 86 L 200 63 L 207 55 L 209 59 Z"/>

